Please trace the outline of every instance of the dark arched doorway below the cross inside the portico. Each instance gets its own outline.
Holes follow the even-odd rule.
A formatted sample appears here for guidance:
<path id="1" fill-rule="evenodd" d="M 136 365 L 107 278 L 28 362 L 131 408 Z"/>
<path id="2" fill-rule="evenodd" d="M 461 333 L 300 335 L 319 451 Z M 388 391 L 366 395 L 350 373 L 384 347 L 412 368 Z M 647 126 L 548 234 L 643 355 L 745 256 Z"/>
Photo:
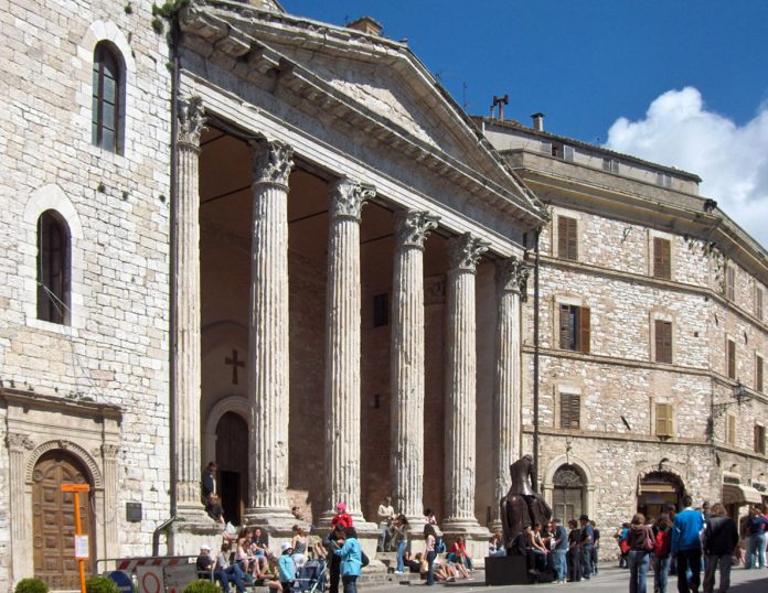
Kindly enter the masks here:
<path id="1" fill-rule="evenodd" d="M 235 412 L 224 413 L 216 424 L 216 463 L 224 517 L 239 525 L 248 498 L 248 424 Z"/>

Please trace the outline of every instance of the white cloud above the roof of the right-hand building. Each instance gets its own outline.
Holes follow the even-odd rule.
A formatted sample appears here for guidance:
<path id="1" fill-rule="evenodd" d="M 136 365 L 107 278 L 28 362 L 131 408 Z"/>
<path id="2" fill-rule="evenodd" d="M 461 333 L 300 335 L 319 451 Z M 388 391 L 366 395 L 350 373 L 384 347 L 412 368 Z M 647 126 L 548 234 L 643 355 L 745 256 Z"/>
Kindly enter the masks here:
<path id="1" fill-rule="evenodd" d="M 696 88 L 669 90 L 644 119 L 617 119 L 606 147 L 697 174 L 700 194 L 768 247 L 768 104 L 737 126 L 708 111 Z"/>

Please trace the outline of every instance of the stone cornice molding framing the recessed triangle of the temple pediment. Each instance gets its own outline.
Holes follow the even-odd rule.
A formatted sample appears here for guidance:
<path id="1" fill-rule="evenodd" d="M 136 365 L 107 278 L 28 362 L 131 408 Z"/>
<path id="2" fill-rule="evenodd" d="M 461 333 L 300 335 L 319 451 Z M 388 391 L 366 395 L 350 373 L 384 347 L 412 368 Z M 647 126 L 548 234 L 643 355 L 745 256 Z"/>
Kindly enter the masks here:
<path id="1" fill-rule="evenodd" d="M 265 20 L 263 15 L 264 13 L 259 13 L 249 15 L 249 20 L 238 19 L 231 4 L 222 6 L 221 10 L 190 7 L 181 12 L 180 26 L 189 34 L 189 40 L 184 42 L 189 48 L 220 63 L 222 67 L 232 69 L 236 76 L 256 86 L 267 85 L 271 93 L 275 93 L 276 85 L 279 84 L 280 98 L 297 109 L 309 112 L 327 125 L 332 122 L 340 126 L 345 132 L 364 130 L 363 141 L 381 144 L 384 150 L 402 154 L 412 163 L 427 168 L 454 186 L 463 188 L 468 198 L 471 197 L 479 204 L 492 205 L 498 212 L 516 219 L 525 228 L 536 228 L 544 224 L 546 212 L 535 194 L 501 159 L 474 125 L 465 121 L 466 116 L 461 109 L 455 105 L 447 106 L 452 105 L 452 99 L 447 93 L 435 94 L 435 84 L 425 85 L 425 78 L 430 78 L 426 71 L 419 72 L 419 76 L 414 76 L 412 83 L 419 90 L 429 93 L 429 100 L 435 104 L 434 109 L 440 105 L 440 112 L 449 112 L 452 126 L 461 128 L 465 152 L 474 154 L 471 165 L 416 138 L 392 119 L 354 101 L 289 56 L 267 46 L 264 39 L 279 37 L 280 43 L 289 43 L 292 35 L 285 29 L 276 29 L 273 19 Z M 307 20 L 300 22 L 303 25 L 308 23 Z M 305 35 L 305 50 L 306 45 L 311 45 L 307 37 L 314 31 L 333 30 L 324 23 L 312 24 L 316 26 L 302 26 L 296 31 L 296 34 Z M 253 36 L 256 34 L 258 40 Z M 359 47 L 344 47 L 346 54 L 353 50 L 356 51 Z M 409 52 L 407 54 L 410 55 Z M 401 62 L 403 56 L 396 60 Z M 405 76 L 405 72 L 410 73 L 417 63 L 412 60 L 408 65 L 398 69 L 404 71 L 401 74 Z"/>

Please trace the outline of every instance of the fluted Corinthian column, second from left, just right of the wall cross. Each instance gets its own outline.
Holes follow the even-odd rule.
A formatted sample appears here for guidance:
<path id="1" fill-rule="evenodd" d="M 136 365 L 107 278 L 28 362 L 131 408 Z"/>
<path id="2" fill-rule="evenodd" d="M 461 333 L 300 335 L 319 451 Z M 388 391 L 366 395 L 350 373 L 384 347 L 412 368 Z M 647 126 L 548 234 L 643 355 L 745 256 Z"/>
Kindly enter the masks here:
<path id="1" fill-rule="evenodd" d="M 288 488 L 288 176 L 294 150 L 252 142 L 248 522 L 291 521 Z"/>

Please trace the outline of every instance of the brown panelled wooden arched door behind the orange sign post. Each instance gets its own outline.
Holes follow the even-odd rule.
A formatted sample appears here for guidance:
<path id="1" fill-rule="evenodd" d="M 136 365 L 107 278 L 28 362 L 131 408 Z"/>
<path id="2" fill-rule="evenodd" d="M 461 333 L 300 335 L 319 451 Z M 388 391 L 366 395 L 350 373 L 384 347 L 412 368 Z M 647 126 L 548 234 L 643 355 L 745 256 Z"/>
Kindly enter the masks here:
<path id="1" fill-rule="evenodd" d="M 85 467 L 65 451 L 45 453 L 32 474 L 32 528 L 34 575 L 51 589 L 79 589 L 79 571 L 75 560 L 74 494 L 62 493 L 62 484 L 87 484 Z M 83 533 L 88 535 L 94 558 L 93 490 L 79 496 Z M 18 553 L 23 551 L 18 550 Z M 85 571 L 93 568 L 86 560 Z"/>

